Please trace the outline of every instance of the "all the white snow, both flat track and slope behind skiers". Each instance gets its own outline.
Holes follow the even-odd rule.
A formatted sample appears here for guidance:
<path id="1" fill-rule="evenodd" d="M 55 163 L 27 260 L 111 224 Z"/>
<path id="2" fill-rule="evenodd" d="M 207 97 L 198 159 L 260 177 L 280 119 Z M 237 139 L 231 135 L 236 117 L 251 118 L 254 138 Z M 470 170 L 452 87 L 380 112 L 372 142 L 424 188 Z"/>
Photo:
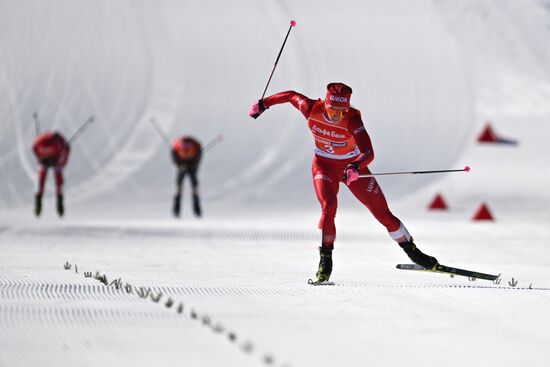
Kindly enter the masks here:
<path id="1" fill-rule="evenodd" d="M 350 84 L 373 171 L 470 165 L 379 182 L 423 251 L 500 284 L 395 269 L 408 259 L 343 186 L 336 285 L 307 284 L 311 138 L 288 106 L 246 116 L 290 19 L 268 93 Z M 549 21 L 535 0 L 3 2 L 0 366 L 545 365 Z M 66 136 L 96 117 L 63 219 L 51 175 L 32 216 L 34 111 Z M 171 137 L 224 135 L 201 166 L 202 219 L 188 186 L 170 217 L 152 116 Z M 519 145 L 476 144 L 488 120 Z M 449 211 L 426 209 L 438 192 Z M 496 221 L 471 220 L 483 202 Z"/>

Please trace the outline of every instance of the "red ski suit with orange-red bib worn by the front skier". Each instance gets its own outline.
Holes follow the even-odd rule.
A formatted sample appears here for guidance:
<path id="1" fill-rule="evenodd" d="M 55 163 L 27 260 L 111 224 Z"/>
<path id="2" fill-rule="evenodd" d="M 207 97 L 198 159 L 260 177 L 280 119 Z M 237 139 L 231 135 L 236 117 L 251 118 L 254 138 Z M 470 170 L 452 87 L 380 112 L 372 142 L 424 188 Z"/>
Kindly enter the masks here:
<path id="1" fill-rule="evenodd" d="M 351 107 L 340 121 L 332 122 L 324 112 L 324 100 L 309 99 L 294 91 L 263 99 L 266 107 L 287 102 L 304 115 L 315 139 L 311 170 L 322 209 L 319 229 L 322 230 L 323 246 L 331 246 L 336 237 L 334 218 L 339 183 L 350 163 L 358 165 L 360 174 L 370 173 L 368 165 L 374 160 L 371 139 L 361 120 L 361 113 L 355 108 Z M 349 189 L 386 227 L 392 239 L 397 242 L 411 239 L 405 226 L 390 212 L 384 193 L 374 177 L 356 180 L 349 185 Z"/>

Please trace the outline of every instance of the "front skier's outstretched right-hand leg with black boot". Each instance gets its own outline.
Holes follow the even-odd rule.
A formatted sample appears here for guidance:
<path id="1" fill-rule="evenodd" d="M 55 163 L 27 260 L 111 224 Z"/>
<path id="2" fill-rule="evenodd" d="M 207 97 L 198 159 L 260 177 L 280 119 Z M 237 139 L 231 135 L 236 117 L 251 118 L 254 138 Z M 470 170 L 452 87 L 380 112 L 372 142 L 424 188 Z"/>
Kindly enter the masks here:
<path id="1" fill-rule="evenodd" d="M 399 244 L 413 262 L 428 269 L 438 264 L 435 257 L 424 254 L 416 247 L 407 228 L 391 213 L 386 197 L 374 177 L 368 180 L 357 180 L 351 183 L 349 188 L 353 195 L 386 227 L 390 237 Z"/>

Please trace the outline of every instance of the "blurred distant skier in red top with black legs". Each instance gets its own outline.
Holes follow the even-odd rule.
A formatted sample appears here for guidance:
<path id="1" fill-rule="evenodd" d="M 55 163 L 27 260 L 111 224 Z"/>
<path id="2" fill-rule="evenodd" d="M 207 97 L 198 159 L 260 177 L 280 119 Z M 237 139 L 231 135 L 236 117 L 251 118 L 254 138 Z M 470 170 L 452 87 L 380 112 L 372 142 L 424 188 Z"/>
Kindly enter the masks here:
<path id="1" fill-rule="evenodd" d="M 199 199 L 199 181 L 197 171 L 202 156 L 201 144 L 190 136 L 176 138 L 172 142 L 172 160 L 176 165 L 176 194 L 172 212 L 175 217 L 180 216 L 183 179 L 189 175 L 193 193 L 193 212 L 197 217 L 202 215 Z"/>

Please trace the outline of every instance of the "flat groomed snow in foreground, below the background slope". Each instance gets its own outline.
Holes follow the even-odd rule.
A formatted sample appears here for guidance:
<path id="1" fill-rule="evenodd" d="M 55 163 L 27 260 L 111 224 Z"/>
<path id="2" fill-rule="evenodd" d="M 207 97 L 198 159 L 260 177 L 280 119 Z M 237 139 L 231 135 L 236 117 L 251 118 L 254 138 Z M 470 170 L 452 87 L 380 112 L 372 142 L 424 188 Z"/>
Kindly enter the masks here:
<path id="1" fill-rule="evenodd" d="M 313 287 L 313 215 L 11 223 L 0 234 L 2 365 L 543 365 L 544 221 L 409 221 L 424 250 L 502 273 L 495 285 L 394 269 L 401 250 L 368 215 L 345 212 L 336 285 Z"/>

